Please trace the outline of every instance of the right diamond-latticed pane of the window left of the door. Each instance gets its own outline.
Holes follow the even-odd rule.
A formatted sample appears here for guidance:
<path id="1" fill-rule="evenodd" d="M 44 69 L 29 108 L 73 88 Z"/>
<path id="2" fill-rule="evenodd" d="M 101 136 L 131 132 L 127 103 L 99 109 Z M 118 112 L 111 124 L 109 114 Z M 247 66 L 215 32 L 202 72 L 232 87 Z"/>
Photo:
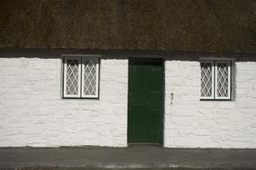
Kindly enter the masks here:
<path id="1" fill-rule="evenodd" d="M 97 61 L 84 61 L 84 95 L 96 95 L 97 92 Z"/>

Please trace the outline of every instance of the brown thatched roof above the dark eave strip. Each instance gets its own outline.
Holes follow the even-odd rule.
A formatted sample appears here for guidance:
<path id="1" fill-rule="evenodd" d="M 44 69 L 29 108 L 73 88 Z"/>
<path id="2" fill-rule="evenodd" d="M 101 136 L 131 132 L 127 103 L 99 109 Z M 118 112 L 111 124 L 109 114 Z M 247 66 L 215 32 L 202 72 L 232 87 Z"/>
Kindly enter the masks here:
<path id="1" fill-rule="evenodd" d="M 0 0 L 0 47 L 256 53 L 256 0 Z"/>

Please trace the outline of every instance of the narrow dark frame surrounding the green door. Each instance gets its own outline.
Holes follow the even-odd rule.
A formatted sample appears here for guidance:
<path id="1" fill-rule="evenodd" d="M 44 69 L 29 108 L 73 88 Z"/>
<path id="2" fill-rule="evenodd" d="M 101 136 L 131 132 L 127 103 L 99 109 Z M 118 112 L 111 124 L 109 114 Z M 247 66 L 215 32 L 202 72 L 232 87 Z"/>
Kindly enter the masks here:
<path id="1" fill-rule="evenodd" d="M 143 145 L 159 145 L 161 147 L 164 146 L 164 127 L 165 127 L 165 59 L 163 57 L 128 57 L 128 87 L 129 87 L 129 64 L 130 64 L 130 61 L 131 60 L 135 60 L 135 61 L 144 61 L 144 60 L 154 60 L 154 59 L 158 59 L 158 60 L 162 60 L 162 68 L 163 68 L 163 71 L 162 71 L 162 75 L 163 75 L 163 105 L 162 105 L 162 142 L 161 143 L 150 143 L 150 142 L 146 142 L 146 143 L 143 143 L 143 142 L 139 142 L 139 143 L 136 143 L 136 142 L 131 142 L 129 143 L 128 142 L 128 115 L 127 115 L 127 145 L 130 146 L 132 144 L 143 144 Z M 129 88 L 128 88 L 128 94 L 129 94 Z M 128 97 L 128 101 L 129 101 L 129 97 Z M 129 102 L 128 102 L 128 106 L 129 106 Z M 128 113 L 128 112 L 127 112 Z"/>

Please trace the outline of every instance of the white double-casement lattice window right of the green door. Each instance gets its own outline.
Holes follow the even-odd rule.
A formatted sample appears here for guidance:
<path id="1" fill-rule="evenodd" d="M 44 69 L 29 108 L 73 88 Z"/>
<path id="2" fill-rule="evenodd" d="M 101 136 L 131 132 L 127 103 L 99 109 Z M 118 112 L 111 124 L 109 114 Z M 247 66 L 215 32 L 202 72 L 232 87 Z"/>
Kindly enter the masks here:
<path id="1" fill-rule="evenodd" d="M 201 62 L 201 99 L 231 99 L 231 61 Z"/>

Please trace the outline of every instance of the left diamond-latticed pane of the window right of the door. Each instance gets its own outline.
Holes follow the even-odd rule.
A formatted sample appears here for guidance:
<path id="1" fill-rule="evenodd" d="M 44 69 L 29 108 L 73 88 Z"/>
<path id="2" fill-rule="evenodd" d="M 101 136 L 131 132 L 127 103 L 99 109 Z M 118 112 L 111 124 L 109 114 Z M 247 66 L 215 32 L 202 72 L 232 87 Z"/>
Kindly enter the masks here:
<path id="1" fill-rule="evenodd" d="M 211 63 L 201 63 L 201 97 L 212 96 Z"/>

